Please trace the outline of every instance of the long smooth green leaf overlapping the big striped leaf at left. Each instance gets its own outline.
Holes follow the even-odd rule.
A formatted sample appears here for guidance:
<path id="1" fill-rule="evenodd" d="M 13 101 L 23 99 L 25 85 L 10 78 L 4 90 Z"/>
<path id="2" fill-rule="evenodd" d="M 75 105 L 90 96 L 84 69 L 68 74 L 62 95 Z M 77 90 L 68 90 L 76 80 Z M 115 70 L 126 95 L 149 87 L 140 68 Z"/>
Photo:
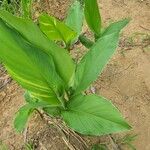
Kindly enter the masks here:
<path id="1" fill-rule="evenodd" d="M 57 72 L 67 84 L 69 83 L 75 65 L 65 49 L 48 40 L 38 26 L 29 19 L 15 17 L 6 11 L 0 11 L 0 18 L 16 29 L 27 41 L 52 56 Z"/>

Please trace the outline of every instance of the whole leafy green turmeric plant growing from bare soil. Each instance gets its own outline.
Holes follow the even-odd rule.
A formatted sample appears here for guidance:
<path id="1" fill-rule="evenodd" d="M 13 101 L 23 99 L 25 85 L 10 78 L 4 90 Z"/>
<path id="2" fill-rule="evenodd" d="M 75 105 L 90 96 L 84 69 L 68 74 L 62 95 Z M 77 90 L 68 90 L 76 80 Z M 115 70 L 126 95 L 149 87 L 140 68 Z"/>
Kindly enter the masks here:
<path id="1" fill-rule="evenodd" d="M 94 41 L 82 34 L 84 17 Z M 41 14 L 35 23 L 1 10 L 0 60 L 25 89 L 26 104 L 16 115 L 16 130 L 23 131 L 37 109 L 62 118 L 68 127 L 85 135 L 129 130 L 110 100 L 85 94 L 114 54 L 119 33 L 128 22 L 123 19 L 103 28 L 96 0 L 84 0 L 82 5 L 75 1 L 64 21 Z M 58 41 L 63 44 L 57 45 Z M 77 41 L 89 50 L 75 63 L 68 49 Z"/>

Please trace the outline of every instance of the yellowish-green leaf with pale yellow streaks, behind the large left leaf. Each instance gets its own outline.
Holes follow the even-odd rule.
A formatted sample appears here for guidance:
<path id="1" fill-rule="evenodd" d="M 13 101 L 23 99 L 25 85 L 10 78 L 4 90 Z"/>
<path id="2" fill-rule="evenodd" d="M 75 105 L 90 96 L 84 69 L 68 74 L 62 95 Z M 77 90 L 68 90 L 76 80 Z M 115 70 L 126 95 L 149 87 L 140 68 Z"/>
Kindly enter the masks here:
<path id="1" fill-rule="evenodd" d="M 71 28 L 47 14 L 43 14 L 39 17 L 39 24 L 43 33 L 45 33 L 50 40 L 62 40 L 67 45 L 76 37 L 76 32 Z"/>

